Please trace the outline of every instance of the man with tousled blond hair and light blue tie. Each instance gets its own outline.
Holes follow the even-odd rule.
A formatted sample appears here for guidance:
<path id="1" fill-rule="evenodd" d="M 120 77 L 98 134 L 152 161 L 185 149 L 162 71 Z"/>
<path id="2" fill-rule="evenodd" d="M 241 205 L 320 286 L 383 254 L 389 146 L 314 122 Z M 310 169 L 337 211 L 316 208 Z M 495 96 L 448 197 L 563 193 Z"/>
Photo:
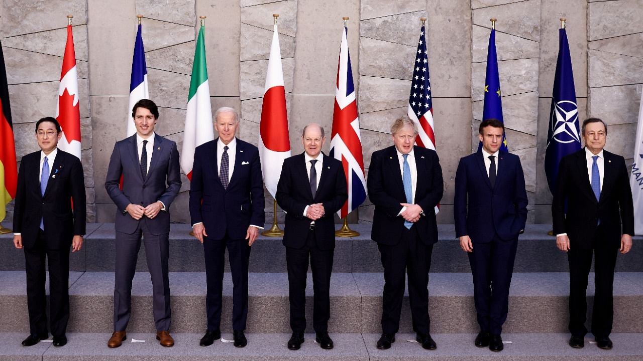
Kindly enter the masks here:
<path id="1" fill-rule="evenodd" d="M 408 274 L 413 331 L 424 349 L 437 348 L 429 332 L 429 269 L 438 240 L 435 206 L 442 198 L 442 168 L 435 150 L 414 146 L 417 126 L 408 118 L 391 126 L 394 146 L 373 153 L 368 168 L 368 197 L 375 204 L 371 239 L 384 267 L 382 336 L 388 349 L 399 330 Z"/>

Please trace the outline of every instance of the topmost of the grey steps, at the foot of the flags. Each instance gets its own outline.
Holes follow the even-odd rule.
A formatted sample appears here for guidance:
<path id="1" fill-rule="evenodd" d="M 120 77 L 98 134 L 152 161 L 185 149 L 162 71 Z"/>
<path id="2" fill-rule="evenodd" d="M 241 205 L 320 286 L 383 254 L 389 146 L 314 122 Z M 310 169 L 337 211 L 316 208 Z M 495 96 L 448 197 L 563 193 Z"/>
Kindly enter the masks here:
<path id="1" fill-rule="evenodd" d="M 9 226 L 9 225 L 5 225 Z M 283 227 L 283 226 L 282 226 Z M 370 240 L 370 225 L 350 225 L 360 235 L 338 238 L 334 272 L 383 272 L 377 244 Z M 471 272 L 469 259 L 455 239 L 453 225 L 441 224 L 440 241 L 433 248 L 431 272 Z M 567 272 L 566 254 L 558 251 L 550 225 L 527 225 L 520 236 L 514 272 Z M 187 224 L 172 224 L 170 232 L 170 272 L 204 272 L 203 246 L 189 235 Z M 23 252 L 14 248 L 10 234 L 0 235 L 0 270 L 24 270 Z M 5 242 L 6 240 L 6 242 Z M 643 272 L 643 247 L 635 247 L 617 261 L 617 272 Z M 227 258 L 227 252 L 226 252 Z M 114 270 L 114 224 L 88 224 L 84 247 L 70 256 L 75 271 Z M 141 246 L 136 270 L 147 272 L 145 247 Z M 229 271 L 226 261 L 226 271 Z M 286 272 L 285 248 L 281 238 L 260 236 L 250 253 L 250 272 Z"/>

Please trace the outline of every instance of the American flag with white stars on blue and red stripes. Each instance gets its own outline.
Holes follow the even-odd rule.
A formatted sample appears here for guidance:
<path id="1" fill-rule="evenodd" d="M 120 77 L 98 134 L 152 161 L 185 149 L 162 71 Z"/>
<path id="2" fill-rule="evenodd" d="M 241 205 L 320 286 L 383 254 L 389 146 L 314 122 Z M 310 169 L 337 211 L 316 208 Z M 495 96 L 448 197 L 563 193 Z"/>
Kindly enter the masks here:
<path id="1" fill-rule="evenodd" d="M 435 150 L 435 134 L 433 134 L 433 100 L 431 99 L 431 84 L 429 82 L 429 60 L 426 53 L 426 38 L 424 25 L 420 30 L 420 40 L 417 42 L 411 91 L 408 96 L 409 118 L 417 125 L 418 134 L 415 144 L 422 148 Z M 435 214 L 440 211 L 440 204 L 435 206 Z"/>

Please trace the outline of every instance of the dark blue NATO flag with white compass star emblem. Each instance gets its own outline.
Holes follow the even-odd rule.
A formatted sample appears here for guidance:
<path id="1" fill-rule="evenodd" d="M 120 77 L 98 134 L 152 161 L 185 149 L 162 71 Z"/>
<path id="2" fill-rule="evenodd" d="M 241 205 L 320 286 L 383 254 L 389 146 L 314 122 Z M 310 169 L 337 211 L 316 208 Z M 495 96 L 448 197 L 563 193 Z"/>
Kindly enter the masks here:
<path id="1" fill-rule="evenodd" d="M 558 60 L 552 107 L 549 111 L 549 129 L 547 132 L 547 151 L 545 152 L 545 173 L 549 190 L 554 192 L 558 177 L 558 164 L 565 155 L 581 149 L 578 124 L 578 106 L 574 89 L 572 58 L 569 55 L 569 44 L 565 28 L 559 30 Z"/>

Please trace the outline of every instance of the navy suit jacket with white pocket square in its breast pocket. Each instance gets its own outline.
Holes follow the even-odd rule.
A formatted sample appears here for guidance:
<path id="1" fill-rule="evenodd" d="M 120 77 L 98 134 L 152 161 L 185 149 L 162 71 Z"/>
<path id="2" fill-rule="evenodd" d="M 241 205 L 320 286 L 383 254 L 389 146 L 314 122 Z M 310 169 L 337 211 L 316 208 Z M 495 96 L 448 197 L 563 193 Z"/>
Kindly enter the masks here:
<path id="1" fill-rule="evenodd" d="M 264 226 L 264 184 L 256 146 L 237 139 L 237 151 L 228 189 L 217 170 L 219 138 L 197 146 L 190 186 L 192 224 L 203 222 L 208 237 L 246 238 L 248 225 Z"/>

